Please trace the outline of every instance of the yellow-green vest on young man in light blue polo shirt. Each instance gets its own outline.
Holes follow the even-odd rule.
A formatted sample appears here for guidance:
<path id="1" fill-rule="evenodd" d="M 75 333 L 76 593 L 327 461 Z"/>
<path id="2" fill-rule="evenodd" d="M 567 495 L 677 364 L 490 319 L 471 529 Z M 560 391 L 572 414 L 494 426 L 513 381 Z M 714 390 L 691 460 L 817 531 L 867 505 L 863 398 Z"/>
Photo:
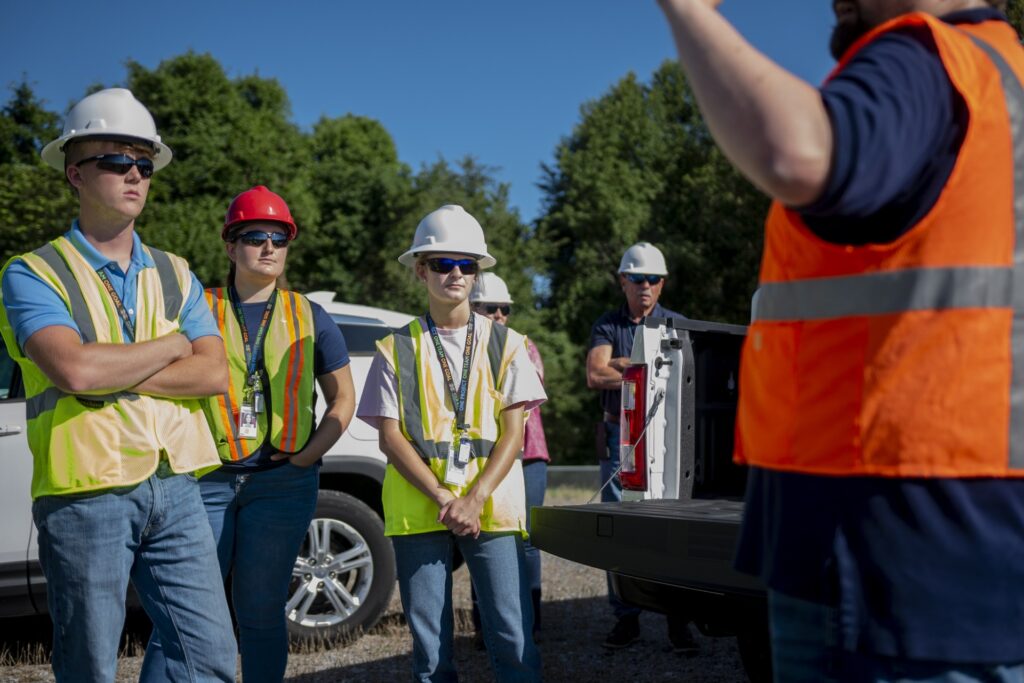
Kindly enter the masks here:
<path id="1" fill-rule="evenodd" d="M 193 284 L 184 259 L 142 248 L 156 267 L 138 273 L 135 340 L 139 342 L 179 331 L 178 316 Z M 60 296 L 83 343 L 129 343 L 102 282 L 67 238 L 15 256 L 4 271 L 17 259 Z M 175 472 L 204 474 L 219 464 L 198 399 L 131 391 L 65 393 L 18 347 L 2 306 L 0 333 L 25 383 L 33 499 L 136 484 L 157 470 L 162 454 Z"/>

